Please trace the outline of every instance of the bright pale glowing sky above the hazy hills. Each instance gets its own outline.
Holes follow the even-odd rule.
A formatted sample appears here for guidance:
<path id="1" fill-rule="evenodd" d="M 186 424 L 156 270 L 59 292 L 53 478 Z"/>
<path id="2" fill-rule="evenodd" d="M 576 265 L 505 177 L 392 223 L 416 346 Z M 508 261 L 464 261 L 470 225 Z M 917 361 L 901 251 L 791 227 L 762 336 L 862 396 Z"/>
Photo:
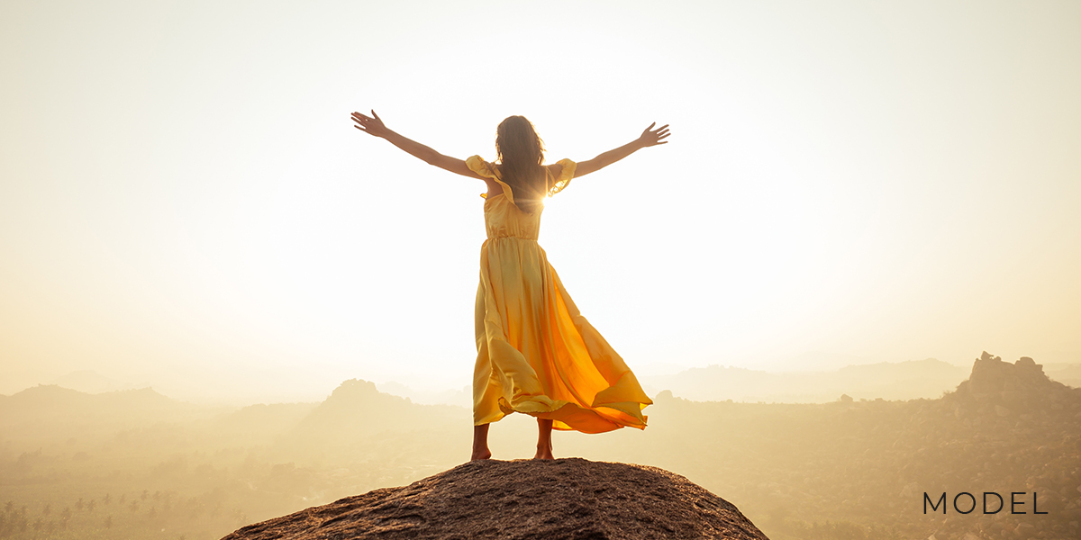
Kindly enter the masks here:
<path id="1" fill-rule="evenodd" d="M 374 109 L 577 178 L 540 244 L 636 372 L 1081 362 L 1081 3 L 0 4 L 0 393 L 463 388 L 483 183 Z"/>

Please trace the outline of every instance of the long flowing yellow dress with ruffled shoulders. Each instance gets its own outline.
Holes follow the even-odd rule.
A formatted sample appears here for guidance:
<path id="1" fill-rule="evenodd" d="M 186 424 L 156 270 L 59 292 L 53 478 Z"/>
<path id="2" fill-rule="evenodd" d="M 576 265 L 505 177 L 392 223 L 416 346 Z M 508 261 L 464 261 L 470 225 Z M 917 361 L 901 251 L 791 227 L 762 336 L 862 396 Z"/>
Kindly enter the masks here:
<path id="1" fill-rule="evenodd" d="M 574 177 L 573 161 L 559 163 L 563 171 L 548 179 L 549 194 Z M 550 419 L 558 430 L 644 429 L 642 409 L 653 402 L 578 312 L 537 244 L 543 206 L 522 212 L 494 165 L 479 156 L 466 164 L 503 187 L 502 194 L 484 201 L 488 240 L 477 289 L 473 424 L 518 411 Z"/>

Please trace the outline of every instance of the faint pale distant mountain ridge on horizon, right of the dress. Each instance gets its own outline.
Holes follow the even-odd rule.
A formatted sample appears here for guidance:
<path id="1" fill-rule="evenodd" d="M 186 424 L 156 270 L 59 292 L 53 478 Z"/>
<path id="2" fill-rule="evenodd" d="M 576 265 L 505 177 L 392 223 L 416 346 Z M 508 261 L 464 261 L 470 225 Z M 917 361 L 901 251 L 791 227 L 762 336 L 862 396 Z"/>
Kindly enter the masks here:
<path id="1" fill-rule="evenodd" d="M 967 369 L 934 359 L 853 365 L 833 372 L 766 373 L 712 365 L 642 377 L 651 392 L 671 390 L 694 401 L 827 403 L 841 394 L 855 399 L 939 397 L 957 388 Z"/>

